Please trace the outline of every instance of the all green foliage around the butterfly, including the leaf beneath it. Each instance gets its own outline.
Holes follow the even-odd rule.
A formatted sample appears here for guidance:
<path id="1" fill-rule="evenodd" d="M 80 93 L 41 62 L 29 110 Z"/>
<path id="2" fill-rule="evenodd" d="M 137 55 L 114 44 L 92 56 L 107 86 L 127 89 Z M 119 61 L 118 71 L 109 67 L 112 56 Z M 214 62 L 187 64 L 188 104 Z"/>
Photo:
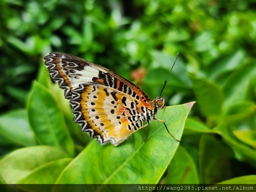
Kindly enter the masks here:
<path id="1" fill-rule="evenodd" d="M 0 183 L 255 183 L 254 1 L 0 5 Z M 113 70 L 151 99 L 168 79 L 166 102 L 177 106 L 157 118 L 180 144 L 152 121 L 146 143 L 137 131 L 100 146 L 72 122 L 42 60 L 51 51 Z"/>

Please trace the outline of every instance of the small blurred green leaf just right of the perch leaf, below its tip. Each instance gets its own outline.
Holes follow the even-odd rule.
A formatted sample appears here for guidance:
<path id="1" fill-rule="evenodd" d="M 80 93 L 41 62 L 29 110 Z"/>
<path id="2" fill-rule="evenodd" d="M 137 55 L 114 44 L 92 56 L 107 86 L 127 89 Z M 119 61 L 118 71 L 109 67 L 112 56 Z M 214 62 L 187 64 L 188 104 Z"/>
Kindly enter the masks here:
<path id="1" fill-rule="evenodd" d="M 188 117 L 185 123 L 184 134 L 185 133 L 212 133 L 212 131 L 204 123 Z"/>

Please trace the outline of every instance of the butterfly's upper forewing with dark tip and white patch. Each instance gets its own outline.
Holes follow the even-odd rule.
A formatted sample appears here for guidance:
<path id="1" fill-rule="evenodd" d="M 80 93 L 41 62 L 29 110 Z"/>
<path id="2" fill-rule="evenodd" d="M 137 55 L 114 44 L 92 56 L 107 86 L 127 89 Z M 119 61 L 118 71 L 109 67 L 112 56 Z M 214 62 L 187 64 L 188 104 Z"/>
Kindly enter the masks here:
<path id="1" fill-rule="evenodd" d="M 64 89 L 65 97 L 71 99 L 71 91 L 82 83 L 96 83 L 130 95 L 151 108 L 152 100 L 131 81 L 118 74 L 79 57 L 52 52 L 45 58 L 45 65 L 54 81 Z"/>

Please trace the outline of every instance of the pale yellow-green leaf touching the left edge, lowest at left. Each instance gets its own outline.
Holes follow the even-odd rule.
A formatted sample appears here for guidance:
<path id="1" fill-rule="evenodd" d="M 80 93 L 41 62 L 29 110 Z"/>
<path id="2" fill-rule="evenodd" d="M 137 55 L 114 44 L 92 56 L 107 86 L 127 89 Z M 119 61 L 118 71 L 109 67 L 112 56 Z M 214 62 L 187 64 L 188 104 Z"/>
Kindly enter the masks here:
<path id="1" fill-rule="evenodd" d="M 11 152 L 0 161 L 0 178 L 15 184 L 29 175 L 36 167 L 50 161 L 66 158 L 62 150 L 51 146 L 25 147 Z"/>

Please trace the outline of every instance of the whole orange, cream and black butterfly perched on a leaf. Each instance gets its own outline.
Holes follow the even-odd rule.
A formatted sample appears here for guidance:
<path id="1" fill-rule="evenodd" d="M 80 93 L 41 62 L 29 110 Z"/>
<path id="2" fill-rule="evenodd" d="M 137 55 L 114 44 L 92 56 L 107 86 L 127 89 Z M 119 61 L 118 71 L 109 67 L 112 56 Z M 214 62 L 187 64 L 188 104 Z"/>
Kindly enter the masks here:
<path id="1" fill-rule="evenodd" d="M 70 100 L 74 123 L 101 145 L 110 142 L 117 146 L 138 129 L 146 132 L 146 141 L 144 127 L 152 119 L 163 122 L 170 134 L 165 122 L 155 117 L 159 109 L 165 108 L 161 94 L 166 81 L 152 101 L 131 81 L 90 61 L 60 52 L 51 52 L 44 60 L 51 78 Z"/>

